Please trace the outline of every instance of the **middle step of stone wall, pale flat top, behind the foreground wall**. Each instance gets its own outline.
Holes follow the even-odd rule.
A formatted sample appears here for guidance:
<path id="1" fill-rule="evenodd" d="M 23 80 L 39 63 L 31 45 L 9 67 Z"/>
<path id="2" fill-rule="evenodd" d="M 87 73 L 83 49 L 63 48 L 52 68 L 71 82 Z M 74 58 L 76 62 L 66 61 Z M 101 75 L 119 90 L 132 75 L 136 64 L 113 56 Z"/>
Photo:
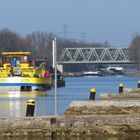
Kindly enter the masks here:
<path id="1" fill-rule="evenodd" d="M 73 101 L 65 115 L 140 114 L 139 100 Z"/>

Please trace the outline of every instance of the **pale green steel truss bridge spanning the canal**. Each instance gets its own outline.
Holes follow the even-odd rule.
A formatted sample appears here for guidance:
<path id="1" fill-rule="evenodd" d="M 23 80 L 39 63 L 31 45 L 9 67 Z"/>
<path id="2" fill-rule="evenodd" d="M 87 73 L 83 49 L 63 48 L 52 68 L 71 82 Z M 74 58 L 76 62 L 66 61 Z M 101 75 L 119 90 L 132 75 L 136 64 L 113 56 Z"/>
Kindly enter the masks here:
<path id="1" fill-rule="evenodd" d="M 130 61 L 128 48 L 65 48 L 58 63 L 133 64 L 135 62 Z"/>

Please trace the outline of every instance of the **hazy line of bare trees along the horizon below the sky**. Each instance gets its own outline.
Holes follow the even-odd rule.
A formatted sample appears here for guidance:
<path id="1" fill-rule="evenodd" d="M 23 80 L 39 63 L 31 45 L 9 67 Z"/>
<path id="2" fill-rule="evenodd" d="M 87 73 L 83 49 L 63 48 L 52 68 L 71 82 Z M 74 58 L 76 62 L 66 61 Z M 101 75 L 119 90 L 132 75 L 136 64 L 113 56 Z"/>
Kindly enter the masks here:
<path id="1" fill-rule="evenodd" d="M 5 28 L 0 30 L 0 52 L 3 51 L 30 51 L 32 59 L 47 58 L 52 63 L 52 40 L 57 38 L 58 60 L 64 48 L 97 48 L 111 47 L 108 42 L 88 43 L 61 38 L 54 33 L 36 31 L 25 37 Z M 140 35 L 136 35 L 129 46 L 130 59 L 138 63 L 140 69 Z"/>

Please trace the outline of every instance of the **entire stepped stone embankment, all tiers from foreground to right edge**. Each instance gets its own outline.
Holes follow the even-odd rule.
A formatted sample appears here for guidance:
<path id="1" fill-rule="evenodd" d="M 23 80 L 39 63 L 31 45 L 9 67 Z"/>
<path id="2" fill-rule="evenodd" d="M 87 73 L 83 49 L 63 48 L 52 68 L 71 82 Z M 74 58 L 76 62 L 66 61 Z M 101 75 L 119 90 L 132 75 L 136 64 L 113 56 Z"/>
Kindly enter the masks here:
<path id="1" fill-rule="evenodd" d="M 73 101 L 62 116 L 1 118 L 0 136 L 139 136 L 138 90 L 102 94 L 98 101 Z"/>

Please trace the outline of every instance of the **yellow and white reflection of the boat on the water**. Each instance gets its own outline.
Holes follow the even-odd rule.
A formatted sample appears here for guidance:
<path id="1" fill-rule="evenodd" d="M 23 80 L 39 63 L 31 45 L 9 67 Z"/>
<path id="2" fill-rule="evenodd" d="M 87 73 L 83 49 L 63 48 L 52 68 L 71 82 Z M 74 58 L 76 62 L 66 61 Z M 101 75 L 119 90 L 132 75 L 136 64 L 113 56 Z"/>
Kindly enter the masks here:
<path id="1" fill-rule="evenodd" d="M 47 96 L 48 95 L 43 92 L 0 92 L 0 116 L 25 116 L 28 99 L 35 99 Z"/>

